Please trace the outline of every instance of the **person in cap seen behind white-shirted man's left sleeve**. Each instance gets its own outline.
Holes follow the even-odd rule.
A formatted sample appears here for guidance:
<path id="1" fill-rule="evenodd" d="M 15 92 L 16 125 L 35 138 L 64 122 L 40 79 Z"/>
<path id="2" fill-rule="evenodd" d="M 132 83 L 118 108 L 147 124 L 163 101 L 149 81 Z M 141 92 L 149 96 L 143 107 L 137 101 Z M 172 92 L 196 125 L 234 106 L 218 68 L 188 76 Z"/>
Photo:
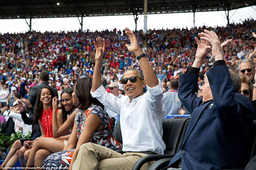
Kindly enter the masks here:
<path id="1" fill-rule="evenodd" d="M 122 98 L 124 97 L 124 95 L 119 94 L 118 90 L 119 90 L 119 85 L 117 82 L 112 82 L 110 85 L 107 86 L 107 88 L 109 88 L 110 93 L 113 94 L 114 96 L 116 96 L 117 98 Z M 115 118 L 115 123 L 117 123 L 120 119 L 120 113 L 115 113 L 111 110 L 109 110 L 108 108 L 105 108 L 105 111 L 108 113 L 108 115 L 112 118 Z"/>

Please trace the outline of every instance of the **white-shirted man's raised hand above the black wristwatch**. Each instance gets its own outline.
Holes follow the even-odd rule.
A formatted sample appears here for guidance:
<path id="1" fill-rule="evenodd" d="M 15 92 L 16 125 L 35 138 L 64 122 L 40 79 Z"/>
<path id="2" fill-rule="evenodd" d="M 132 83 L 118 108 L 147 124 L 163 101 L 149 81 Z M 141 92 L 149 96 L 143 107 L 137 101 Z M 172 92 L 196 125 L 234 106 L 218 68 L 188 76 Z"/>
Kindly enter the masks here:
<path id="1" fill-rule="evenodd" d="M 135 54 L 135 56 L 138 56 L 142 54 L 143 52 L 140 49 L 138 40 L 133 33 L 133 31 L 129 30 L 127 27 L 125 27 L 125 34 L 129 37 L 131 45 L 125 44 L 125 46 L 128 48 L 128 50 Z"/>

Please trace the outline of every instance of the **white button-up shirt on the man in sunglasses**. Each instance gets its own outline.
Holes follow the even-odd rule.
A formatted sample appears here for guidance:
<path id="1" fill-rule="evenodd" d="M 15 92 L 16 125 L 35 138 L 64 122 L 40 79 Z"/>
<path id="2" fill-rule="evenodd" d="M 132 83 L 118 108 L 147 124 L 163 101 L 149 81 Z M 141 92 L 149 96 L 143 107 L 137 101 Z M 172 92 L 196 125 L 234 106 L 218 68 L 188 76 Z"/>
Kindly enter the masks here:
<path id="1" fill-rule="evenodd" d="M 154 151 L 163 154 L 166 145 L 163 142 L 163 89 L 160 80 L 154 88 L 135 99 L 128 96 L 117 98 L 108 93 L 101 85 L 94 93 L 106 108 L 115 113 L 120 113 L 124 152 Z"/>

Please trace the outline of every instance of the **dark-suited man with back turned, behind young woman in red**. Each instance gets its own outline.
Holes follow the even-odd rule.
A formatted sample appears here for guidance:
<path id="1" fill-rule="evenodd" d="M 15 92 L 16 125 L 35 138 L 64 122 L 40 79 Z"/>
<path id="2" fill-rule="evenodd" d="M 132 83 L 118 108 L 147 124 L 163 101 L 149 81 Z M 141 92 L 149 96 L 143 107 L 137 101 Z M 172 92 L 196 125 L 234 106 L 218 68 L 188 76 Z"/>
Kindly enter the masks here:
<path id="1" fill-rule="evenodd" d="M 39 79 L 38 80 L 39 80 L 40 85 L 32 87 L 30 89 L 29 96 L 28 96 L 28 100 L 29 100 L 29 102 L 31 103 L 32 106 L 35 105 L 35 102 L 36 102 L 36 99 L 37 99 L 37 96 L 38 96 L 38 92 L 42 88 L 44 88 L 44 86 L 48 85 L 49 74 L 46 71 L 42 71 L 39 74 Z M 55 96 L 58 97 L 57 89 L 56 88 L 52 88 L 52 90 L 54 91 Z"/>

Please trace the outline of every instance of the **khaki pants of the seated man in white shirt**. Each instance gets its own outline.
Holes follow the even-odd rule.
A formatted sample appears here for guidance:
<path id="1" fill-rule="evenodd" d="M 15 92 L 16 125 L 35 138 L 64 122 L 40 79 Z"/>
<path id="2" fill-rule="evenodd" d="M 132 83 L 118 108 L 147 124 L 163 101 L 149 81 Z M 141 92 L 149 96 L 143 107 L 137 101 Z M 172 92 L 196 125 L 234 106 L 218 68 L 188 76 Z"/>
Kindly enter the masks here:
<path id="1" fill-rule="evenodd" d="M 145 153 L 117 153 L 107 147 L 86 143 L 81 145 L 73 170 L 131 170 L 133 165 Z M 143 165 L 141 170 L 148 170 L 155 161 Z"/>

